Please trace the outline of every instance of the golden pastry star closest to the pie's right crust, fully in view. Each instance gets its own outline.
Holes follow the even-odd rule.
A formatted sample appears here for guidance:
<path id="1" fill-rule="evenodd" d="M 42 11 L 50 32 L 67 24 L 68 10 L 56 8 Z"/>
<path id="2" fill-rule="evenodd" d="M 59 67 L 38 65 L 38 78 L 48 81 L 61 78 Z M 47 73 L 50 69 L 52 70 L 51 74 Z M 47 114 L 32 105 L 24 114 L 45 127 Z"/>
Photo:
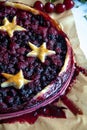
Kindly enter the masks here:
<path id="1" fill-rule="evenodd" d="M 40 47 L 35 46 L 31 42 L 29 42 L 29 46 L 32 49 L 31 52 L 27 54 L 27 56 L 37 56 L 42 62 L 45 62 L 45 57 L 47 55 L 55 54 L 55 51 L 48 50 L 46 48 L 46 43 L 44 42 Z"/>

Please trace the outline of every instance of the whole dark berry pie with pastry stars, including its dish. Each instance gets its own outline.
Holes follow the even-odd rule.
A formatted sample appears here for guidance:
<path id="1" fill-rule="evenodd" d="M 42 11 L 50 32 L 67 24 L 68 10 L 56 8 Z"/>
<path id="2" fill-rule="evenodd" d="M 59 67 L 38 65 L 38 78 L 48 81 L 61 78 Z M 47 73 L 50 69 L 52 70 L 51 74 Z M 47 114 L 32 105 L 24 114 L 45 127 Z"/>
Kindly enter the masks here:
<path id="1" fill-rule="evenodd" d="M 0 2 L 0 120 L 65 94 L 75 70 L 70 41 L 47 14 Z"/>

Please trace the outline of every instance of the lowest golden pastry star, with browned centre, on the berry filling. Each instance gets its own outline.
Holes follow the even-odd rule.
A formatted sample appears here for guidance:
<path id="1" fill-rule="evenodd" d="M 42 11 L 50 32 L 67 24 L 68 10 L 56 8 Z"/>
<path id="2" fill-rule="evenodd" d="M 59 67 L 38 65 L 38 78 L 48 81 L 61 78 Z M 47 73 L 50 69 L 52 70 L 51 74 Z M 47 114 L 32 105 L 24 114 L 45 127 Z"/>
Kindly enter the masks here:
<path id="1" fill-rule="evenodd" d="M 21 89 L 23 85 L 29 83 L 29 80 L 24 79 L 23 72 L 20 70 L 16 75 L 2 73 L 7 81 L 1 83 L 1 87 L 14 86 L 16 89 Z"/>

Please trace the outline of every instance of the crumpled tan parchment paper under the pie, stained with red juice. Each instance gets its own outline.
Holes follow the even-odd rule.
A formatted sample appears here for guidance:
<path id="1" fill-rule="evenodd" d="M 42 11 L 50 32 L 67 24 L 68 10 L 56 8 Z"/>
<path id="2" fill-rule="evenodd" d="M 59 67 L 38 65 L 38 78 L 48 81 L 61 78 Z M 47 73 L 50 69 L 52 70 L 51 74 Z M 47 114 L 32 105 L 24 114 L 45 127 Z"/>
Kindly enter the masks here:
<path id="1" fill-rule="evenodd" d="M 33 5 L 36 0 L 9 0 L 24 2 Z M 45 3 L 45 0 L 41 0 Z M 67 33 L 74 51 L 76 63 L 87 69 L 87 60 L 84 53 L 80 49 L 79 39 L 77 36 L 74 17 L 72 12 L 66 11 L 60 15 L 51 14 L 53 19 L 60 22 L 64 32 Z M 81 110 L 83 115 L 74 116 L 68 109 L 65 111 L 67 119 L 39 117 L 34 124 L 27 122 L 12 124 L 0 124 L 0 130 L 87 130 L 87 77 L 82 73 L 73 84 L 72 90 L 68 93 L 71 99 Z M 60 104 L 64 105 L 61 101 Z"/>

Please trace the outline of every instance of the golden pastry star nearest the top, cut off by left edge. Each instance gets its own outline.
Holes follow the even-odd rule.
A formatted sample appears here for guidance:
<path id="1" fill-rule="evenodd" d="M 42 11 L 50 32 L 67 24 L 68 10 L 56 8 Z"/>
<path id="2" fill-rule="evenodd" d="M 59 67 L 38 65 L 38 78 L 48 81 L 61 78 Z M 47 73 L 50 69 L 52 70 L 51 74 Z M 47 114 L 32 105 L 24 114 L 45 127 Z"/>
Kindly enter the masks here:
<path id="1" fill-rule="evenodd" d="M 13 18 L 12 22 L 9 22 L 8 19 L 5 17 L 3 20 L 3 24 L 3 26 L 0 26 L 0 30 L 7 31 L 10 37 L 13 36 L 14 31 L 26 30 L 25 28 L 17 25 L 16 16 Z"/>

